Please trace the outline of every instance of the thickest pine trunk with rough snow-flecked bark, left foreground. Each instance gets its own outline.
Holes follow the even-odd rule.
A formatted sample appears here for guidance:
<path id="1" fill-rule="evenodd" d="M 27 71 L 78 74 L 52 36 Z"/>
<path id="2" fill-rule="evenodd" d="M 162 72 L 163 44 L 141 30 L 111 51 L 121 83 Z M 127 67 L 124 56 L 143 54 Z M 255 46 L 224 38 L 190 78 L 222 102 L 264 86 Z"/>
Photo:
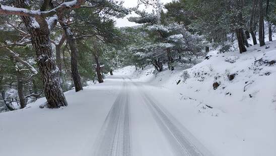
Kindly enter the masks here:
<path id="1" fill-rule="evenodd" d="M 24 0 L 17 0 L 16 6 L 27 8 Z M 38 17 L 36 21 L 39 26 L 33 26 L 30 17 L 21 17 L 30 33 L 33 48 L 36 51 L 36 60 L 41 73 L 44 93 L 49 108 L 67 106 L 67 101 L 60 86 L 58 69 L 53 57 L 52 45 L 50 43 L 50 30 L 45 19 Z"/>

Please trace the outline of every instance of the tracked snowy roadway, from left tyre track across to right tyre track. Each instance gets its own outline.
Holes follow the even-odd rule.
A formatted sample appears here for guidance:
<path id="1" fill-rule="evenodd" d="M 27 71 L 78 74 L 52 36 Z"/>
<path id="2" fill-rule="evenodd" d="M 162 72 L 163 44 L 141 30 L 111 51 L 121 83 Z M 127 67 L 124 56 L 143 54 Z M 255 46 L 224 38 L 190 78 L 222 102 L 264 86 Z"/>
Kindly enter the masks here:
<path id="1" fill-rule="evenodd" d="M 163 107 L 170 103 L 162 102 L 168 97 L 160 88 L 127 77 L 109 81 L 122 87 L 98 134 L 94 155 L 212 155 Z"/>

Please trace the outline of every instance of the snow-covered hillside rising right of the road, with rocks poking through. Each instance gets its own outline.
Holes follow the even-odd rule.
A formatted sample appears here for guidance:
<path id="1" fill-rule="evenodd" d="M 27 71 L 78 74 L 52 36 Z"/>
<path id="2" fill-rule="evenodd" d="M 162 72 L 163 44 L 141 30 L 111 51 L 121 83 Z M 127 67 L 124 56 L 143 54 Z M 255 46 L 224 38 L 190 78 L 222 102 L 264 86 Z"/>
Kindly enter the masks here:
<path id="1" fill-rule="evenodd" d="M 203 62 L 186 70 L 156 73 L 152 66 L 137 71 L 129 66 L 117 72 L 122 71 L 174 92 L 197 112 L 183 119 L 185 125 L 201 141 L 216 144 L 219 155 L 276 154 L 275 41 L 251 46 L 243 54 L 211 51 Z"/>

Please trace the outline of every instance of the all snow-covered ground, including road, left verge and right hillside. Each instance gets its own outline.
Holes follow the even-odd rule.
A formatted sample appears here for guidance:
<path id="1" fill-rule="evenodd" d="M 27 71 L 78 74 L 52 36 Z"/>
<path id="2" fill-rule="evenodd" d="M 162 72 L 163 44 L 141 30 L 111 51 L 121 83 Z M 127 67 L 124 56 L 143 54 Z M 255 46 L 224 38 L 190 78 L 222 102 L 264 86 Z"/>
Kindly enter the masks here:
<path id="1" fill-rule="evenodd" d="M 186 70 L 116 70 L 66 92 L 61 109 L 41 98 L 1 113 L 0 155 L 276 155 L 276 42 L 208 56 Z"/>

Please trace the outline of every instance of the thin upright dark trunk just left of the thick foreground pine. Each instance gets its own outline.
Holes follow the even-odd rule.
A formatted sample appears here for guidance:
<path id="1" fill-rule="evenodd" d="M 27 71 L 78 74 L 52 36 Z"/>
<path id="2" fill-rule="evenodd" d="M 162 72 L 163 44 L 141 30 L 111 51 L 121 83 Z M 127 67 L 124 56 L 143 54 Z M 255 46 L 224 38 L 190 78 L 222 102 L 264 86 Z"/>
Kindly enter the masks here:
<path id="1" fill-rule="evenodd" d="M 17 92 L 18 92 L 18 97 L 20 101 L 20 109 L 24 109 L 27 105 L 26 99 L 24 96 L 24 87 L 23 87 L 24 82 L 20 71 L 17 70 L 16 75 L 17 75 Z"/>

